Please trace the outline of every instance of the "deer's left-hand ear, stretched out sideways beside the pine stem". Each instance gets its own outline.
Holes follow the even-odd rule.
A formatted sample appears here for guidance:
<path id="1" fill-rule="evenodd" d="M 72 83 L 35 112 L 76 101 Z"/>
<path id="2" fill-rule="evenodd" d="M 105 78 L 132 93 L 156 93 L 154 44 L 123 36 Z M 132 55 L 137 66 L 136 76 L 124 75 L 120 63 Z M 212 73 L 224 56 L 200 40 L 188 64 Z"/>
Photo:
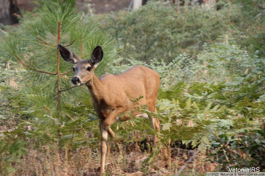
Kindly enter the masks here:
<path id="1" fill-rule="evenodd" d="M 64 61 L 75 64 L 82 60 L 79 56 L 77 56 L 76 53 L 74 53 L 73 51 L 70 51 L 69 49 L 65 48 L 59 43 L 57 44 L 57 47 Z"/>

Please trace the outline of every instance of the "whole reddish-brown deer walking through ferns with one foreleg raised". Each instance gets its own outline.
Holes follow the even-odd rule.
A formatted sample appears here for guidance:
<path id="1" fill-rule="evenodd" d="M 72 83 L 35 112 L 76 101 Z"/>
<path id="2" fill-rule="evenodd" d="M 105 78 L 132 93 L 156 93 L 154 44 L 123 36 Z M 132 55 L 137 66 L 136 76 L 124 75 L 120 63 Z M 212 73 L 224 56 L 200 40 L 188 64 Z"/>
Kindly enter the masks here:
<path id="1" fill-rule="evenodd" d="M 115 139 L 115 133 L 110 126 L 118 120 L 120 114 L 122 119 L 128 120 L 132 116 L 140 116 L 141 113 L 135 108 L 145 106 L 147 110 L 157 113 L 156 101 L 160 77 L 157 72 L 144 66 L 135 66 L 119 75 L 106 74 L 98 78 L 94 70 L 103 58 L 102 46 L 98 45 L 91 53 L 91 58 L 81 59 L 73 51 L 57 44 L 59 52 L 68 63 L 74 64 L 74 77 L 71 82 L 74 86 L 85 84 L 92 97 L 92 103 L 99 116 L 99 128 L 101 134 L 101 161 L 100 174 L 105 172 L 105 157 L 107 152 L 108 134 Z M 141 98 L 139 98 L 141 97 Z M 135 101 L 137 99 L 137 101 Z M 147 114 L 145 115 L 147 118 Z M 149 116 L 153 129 L 160 130 L 158 118 Z M 117 139 L 120 140 L 120 139 Z M 154 145 L 159 139 L 154 135 Z"/>

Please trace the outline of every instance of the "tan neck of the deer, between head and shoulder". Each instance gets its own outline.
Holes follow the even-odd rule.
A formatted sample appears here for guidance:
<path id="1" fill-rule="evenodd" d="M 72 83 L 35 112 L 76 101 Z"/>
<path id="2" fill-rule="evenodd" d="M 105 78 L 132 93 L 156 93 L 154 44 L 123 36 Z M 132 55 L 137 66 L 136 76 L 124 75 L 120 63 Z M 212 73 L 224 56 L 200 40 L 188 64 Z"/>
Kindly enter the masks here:
<path id="1" fill-rule="evenodd" d="M 92 77 L 92 80 L 88 83 L 85 83 L 85 85 L 87 86 L 95 103 L 100 104 L 100 102 L 104 100 L 106 96 L 105 88 L 102 81 L 95 75 L 95 73 L 93 74 L 94 76 Z"/>

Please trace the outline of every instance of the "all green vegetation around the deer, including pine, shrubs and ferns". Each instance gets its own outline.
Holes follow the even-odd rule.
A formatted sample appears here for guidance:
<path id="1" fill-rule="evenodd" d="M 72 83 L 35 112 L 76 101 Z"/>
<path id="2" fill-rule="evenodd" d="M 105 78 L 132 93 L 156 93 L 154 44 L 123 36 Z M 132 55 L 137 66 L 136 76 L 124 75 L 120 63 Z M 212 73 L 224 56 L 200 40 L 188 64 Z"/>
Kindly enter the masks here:
<path id="1" fill-rule="evenodd" d="M 134 127 L 117 122 L 112 129 L 125 145 L 158 135 L 167 147 L 181 140 L 201 151 L 211 150 L 207 160 L 219 163 L 216 169 L 255 163 L 263 167 L 264 27 L 242 22 L 238 6 L 222 2 L 226 1 L 220 1 L 222 8 L 216 11 L 152 1 L 130 13 L 94 18 L 81 16 L 69 5 L 44 5 L 15 35 L 5 34 L 0 44 L 0 127 L 5 131 L 0 140 L 1 175 L 16 172 L 12 163 L 21 162 L 26 148 L 65 149 L 67 165 L 72 165 L 72 156 L 81 147 L 99 147 L 89 92 L 85 86 L 71 87 L 72 66 L 59 57 L 57 43 L 69 45 L 85 59 L 102 45 L 104 58 L 95 70 L 97 76 L 119 74 L 135 65 L 159 73 L 157 113 L 145 108 L 142 112 L 159 118 L 160 133 L 142 117 L 132 118 Z M 111 37 L 102 31 L 116 39 L 118 56 Z M 259 45 L 249 43 L 250 38 Z M 152 153 L 142 171 L 150 171 L 159 150 L 148 144 L 145 152 Z"/>

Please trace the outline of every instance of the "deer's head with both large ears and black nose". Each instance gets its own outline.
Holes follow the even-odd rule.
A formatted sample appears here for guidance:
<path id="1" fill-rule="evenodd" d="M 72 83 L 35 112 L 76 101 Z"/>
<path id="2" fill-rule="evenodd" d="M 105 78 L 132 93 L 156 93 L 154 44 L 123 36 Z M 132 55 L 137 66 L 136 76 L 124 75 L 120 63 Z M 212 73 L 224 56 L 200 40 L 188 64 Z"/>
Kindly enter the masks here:
<path id="1" fill-rule="evenodd" d="M 92 80 L 92 77 L 94 76 L 94 69 L 103 58 L 102 47 L 98 45 L 92 51 L 91 59 L 82 60 L 73 51 L 70 51 L 59 43 L 57 44 L 57 46 L 64 61 L 74 64 L 74 77 L 72 78 L 72 83 L 75 86 L 79 86 L 80 84 L 90 82 Z"/>

